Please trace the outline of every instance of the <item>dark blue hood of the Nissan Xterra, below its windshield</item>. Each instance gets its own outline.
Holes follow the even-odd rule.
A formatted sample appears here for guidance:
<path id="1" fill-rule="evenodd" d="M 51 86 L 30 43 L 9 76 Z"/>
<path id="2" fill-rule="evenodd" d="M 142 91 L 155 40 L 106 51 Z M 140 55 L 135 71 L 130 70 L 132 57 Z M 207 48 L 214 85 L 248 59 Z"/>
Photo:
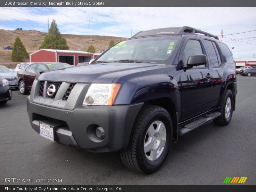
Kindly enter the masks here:
<path id="1" fill-rule="evenodd" d="M 92 64 L 42 73 L 38 77 L 38 80 L 77 83 L 112 83 L 118 76 L 162 67 L 163 65 L 150 63 Z"/>

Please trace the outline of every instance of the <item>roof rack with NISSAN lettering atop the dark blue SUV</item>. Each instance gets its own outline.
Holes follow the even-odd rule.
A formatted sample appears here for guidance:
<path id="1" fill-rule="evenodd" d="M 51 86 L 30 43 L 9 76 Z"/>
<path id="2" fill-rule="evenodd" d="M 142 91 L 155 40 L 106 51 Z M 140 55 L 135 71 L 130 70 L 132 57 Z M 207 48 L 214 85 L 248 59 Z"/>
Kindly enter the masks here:
<path id="1" fill-rule="evenodd" d="M 139 33 L 136 33 L 134 37 L 142 37 L 142 36 L 152 36 L 152 35 L 185 35 L 185 34 L 203 34 L 208 37 L 213 37 L 215 39 L 219 39 L 218 36 L 212 35 L 211 33 L 207 33 L 205 31 L 201 31 L 196 28 L 184 26 L 184 27 L 171 27 L 171 28 L 159 28 L 159 29 L 151 29 L 147 31 L 140 31 Z"/>

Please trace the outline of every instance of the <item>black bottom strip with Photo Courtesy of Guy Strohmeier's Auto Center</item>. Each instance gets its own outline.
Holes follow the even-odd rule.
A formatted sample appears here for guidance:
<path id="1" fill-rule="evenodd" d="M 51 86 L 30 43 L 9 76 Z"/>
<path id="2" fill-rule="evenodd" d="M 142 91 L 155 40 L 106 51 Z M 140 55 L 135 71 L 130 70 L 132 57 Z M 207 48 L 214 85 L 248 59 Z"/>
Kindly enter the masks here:
<path id="1" fill-rule="evenodd" d="M 137 192 L 137 191 L 145 191 L 145 192 L 255 192 L 256 186 L 255 185 L 154 185 L 154 186 L 145 186 L 145 185 L 133 185 L 133 186 L 127 186 L 127 185 L 109 185 L 109 186 L 97 186 L 97 185 L 88 185 L 88 186 L 82 186 L 82 185 L 2 185 L 0 186 L 1 192 L 7 192 L 7 191 L 18 191 L 18 192 L 42 192 L 42 191 L 51 191 L 51 192 L 63 192 L 63 191 L 73 191 L 73 192 L 81 192 L 81 191 L 97 191 L 97 192 L 106 192 L 106 191 L 117 191 L 117 192 Z"/>

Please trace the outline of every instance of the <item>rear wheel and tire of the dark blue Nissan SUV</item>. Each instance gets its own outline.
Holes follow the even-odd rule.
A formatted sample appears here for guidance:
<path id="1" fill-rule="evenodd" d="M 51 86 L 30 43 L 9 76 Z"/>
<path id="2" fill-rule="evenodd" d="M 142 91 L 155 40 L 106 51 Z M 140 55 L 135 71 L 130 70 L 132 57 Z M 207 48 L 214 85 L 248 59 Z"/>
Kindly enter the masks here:
<path id="1" fill-rule="evenodd" d="M 231 90 L 228 89 L 221 102 L 220 116 L 217 117 L 216 119 L 213 119 L 213 122 L 217 125 L 222 125 L 222 126 L 228 125 L 233 114 L 233 108 L 234 108 L 233 93 Z"/>

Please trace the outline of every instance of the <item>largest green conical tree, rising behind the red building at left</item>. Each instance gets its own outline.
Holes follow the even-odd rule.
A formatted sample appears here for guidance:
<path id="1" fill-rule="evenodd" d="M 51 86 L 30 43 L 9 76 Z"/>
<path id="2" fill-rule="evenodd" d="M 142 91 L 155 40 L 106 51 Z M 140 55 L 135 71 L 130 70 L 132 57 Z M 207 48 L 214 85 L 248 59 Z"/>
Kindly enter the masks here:
<path id="1" fill-rule="evenodd" d="M 39 49 L 60 49 L 69 50 L 66 39 L 64 39 L 57 27 L 56 21 L 53 19 L 49 33 L 44 37 L 44 42 Z"/>

